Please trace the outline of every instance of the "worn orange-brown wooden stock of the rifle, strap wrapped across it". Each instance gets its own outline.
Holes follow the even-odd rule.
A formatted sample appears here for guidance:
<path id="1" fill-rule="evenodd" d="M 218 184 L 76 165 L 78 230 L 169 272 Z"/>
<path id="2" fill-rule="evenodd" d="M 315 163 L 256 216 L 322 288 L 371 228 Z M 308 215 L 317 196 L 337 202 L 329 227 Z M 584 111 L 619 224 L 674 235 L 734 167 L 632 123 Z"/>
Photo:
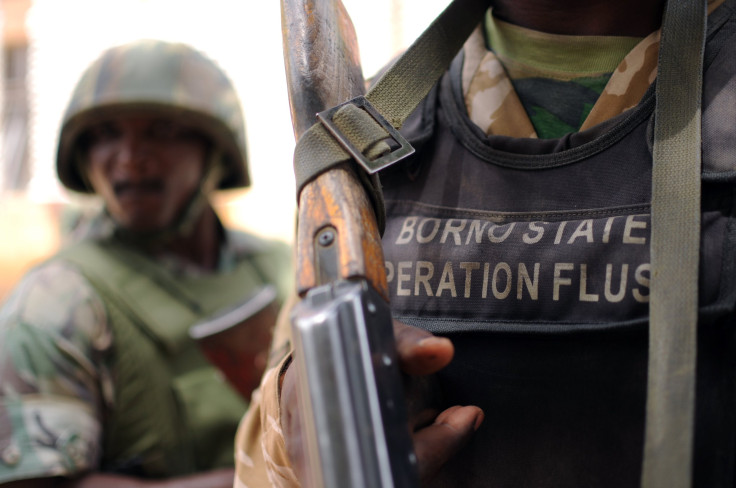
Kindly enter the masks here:
<path id="1" fill-rule="evenodd" d="M 365 92 L 357 38 L 340 0 L 281 0 L 284 59 L 294 134 L 316 114 Z M 297 290 L 365 278 L 388 300 L 376 217 L 354 170 L 331 169 L 299 197 Z"/>

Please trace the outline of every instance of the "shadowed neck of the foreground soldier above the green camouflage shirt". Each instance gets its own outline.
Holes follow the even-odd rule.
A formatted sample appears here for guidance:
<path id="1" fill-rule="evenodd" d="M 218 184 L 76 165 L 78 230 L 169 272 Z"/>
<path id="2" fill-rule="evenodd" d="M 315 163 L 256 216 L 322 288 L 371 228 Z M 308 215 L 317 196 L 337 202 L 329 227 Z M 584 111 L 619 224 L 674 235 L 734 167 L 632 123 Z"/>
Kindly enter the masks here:
<path id="1" fill-rule="evenodd" d="M 645 37 L 659 28 L 665 0 L 495 0 L 496 17 L 550 34 Z"/>

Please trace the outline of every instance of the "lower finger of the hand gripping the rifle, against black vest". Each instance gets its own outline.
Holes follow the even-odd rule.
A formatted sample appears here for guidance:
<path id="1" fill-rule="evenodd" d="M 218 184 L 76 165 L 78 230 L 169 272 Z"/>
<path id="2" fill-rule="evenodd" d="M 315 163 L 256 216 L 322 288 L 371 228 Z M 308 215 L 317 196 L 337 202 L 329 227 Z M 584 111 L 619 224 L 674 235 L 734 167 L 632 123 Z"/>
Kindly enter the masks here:
<path id="1" fill-rule="evenodd" d="M 454 406 L 440 413 L 434 423 L 414 433 L 419 477 L 430 479 L 465 443 L 483 422 L 483 411 L 475 406 Z"/>

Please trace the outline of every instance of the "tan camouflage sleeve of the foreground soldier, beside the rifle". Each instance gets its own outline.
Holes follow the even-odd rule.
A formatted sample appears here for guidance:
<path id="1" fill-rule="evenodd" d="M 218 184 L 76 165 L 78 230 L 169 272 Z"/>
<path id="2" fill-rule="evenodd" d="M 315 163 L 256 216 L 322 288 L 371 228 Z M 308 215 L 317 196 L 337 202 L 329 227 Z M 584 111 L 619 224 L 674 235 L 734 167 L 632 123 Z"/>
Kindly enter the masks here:
<path id="1" fill-rule="evenodd" d="M 290 298 L 281 311 L 266 373 L 235 437 L 234 488 L 300 486 L 286 454 L 279 408 L 279 380 L 291 361 L 288 317 L 296 300 Z"/>

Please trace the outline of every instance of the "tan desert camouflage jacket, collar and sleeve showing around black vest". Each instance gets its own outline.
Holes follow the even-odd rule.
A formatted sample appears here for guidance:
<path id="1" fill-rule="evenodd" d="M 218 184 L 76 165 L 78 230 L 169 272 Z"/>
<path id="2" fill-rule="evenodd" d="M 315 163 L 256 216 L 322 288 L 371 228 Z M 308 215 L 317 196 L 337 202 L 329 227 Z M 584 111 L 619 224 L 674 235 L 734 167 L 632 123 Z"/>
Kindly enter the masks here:
<path id="1" fill-rule="evenodd" d="M 710 11 L 722 3 L 722 0 L 709 2 Z M 620 63 L 581 130 L 598 126 L 639 103 L 656 76 L 659 35 L 656 31 L 641 40 Z M 466 115 L 475 126 L 489 135 L 536 137 L 506 68 L 486 48 L 482 28 L 467 40 L 463 56 L 461 90 Z M 270 364 L 238 430 L 235 488 L 300 486 L 286 453 L 279 405 L 279 379 L 291 361 L 291 356 L 285 354 L 289 344 L 288 321 L 280 320 L 273 347 L 284 354 L 280 362 Z"/>

